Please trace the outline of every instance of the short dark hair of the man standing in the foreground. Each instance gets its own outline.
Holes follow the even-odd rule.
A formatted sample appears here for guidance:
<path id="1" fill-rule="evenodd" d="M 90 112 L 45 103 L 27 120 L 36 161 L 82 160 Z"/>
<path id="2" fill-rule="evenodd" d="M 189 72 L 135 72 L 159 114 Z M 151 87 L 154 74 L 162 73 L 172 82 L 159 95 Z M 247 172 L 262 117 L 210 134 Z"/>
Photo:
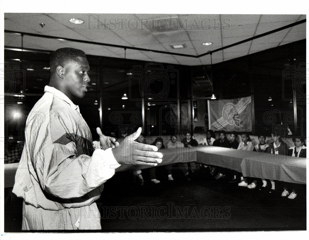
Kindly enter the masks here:
<path id="1" fill-rule="evenodd" d="M 59 48 L 50 56 L 49 67 L 53 73 L 57 66 L 64 66 L 68 61 L 72 61 L 75 57 L 86 57 L 86 54 L 76 48 Z"/>

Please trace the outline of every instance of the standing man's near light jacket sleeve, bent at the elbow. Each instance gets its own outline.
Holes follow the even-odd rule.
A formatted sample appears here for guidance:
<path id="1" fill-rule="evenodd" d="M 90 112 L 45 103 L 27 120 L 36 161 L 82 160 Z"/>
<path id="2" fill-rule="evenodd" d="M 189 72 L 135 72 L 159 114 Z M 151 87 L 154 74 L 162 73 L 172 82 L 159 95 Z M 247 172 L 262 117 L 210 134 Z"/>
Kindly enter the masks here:
<path id="1" fill-rule="evenodd" d="M 86 195 L 111 178 L 120 166 L 111 149 L 94 150 L 92 142 L 74 133 L 74 120 L 68 120 L 52 118 L 47 126 L 40 126 L 37 133 L 28 136 L 30 158 L 40 186 L 63 199 Z"/>

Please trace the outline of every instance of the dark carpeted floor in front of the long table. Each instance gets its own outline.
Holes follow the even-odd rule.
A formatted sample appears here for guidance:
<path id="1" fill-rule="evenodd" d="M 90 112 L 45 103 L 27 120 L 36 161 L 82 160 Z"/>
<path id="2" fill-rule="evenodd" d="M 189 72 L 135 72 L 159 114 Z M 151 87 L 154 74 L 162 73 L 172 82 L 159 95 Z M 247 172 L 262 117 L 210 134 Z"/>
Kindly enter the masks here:
<path id="1" fill-rule="evenodd" d="M 215 180 L 204 169 L 191 181 L 179 170 L 173 171 L 174 181 L 167 181 L 164 166 L 157 170 L 159 184 L 147 181 L 147 171 L 143 176 L 142 187 L 129 171 L 104 184 L 96 201 L 103 232 L 306 230 L 305 185 L 290 200 L 280 196 L 281 188 L 268 193 L 239 187 Z M 10 197 L 8 191 L 5 195 Z M 19 232 L 22 200 L 11 199 L 6 199 L 4 227 Z"/>

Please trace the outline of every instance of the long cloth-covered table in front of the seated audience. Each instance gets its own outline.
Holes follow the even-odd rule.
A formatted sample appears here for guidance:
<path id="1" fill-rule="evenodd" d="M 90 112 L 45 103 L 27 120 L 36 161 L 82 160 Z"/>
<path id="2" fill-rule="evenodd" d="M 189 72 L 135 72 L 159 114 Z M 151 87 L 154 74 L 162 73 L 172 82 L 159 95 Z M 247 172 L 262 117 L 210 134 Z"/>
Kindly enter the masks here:
<path id="1" fill-rule="evenodd" d="M 161 165 L 181 162 L 199 162 L 242 172 L 244 177 L 273 179 L 306 184 L 307 158 L 244 151 L 215 146 L 162 149 Z M 5 164 L 4 187 L 13 187 L 18 163 Z M 121 165 L 116 171 L 144 169 L 147 166 Z"/>

